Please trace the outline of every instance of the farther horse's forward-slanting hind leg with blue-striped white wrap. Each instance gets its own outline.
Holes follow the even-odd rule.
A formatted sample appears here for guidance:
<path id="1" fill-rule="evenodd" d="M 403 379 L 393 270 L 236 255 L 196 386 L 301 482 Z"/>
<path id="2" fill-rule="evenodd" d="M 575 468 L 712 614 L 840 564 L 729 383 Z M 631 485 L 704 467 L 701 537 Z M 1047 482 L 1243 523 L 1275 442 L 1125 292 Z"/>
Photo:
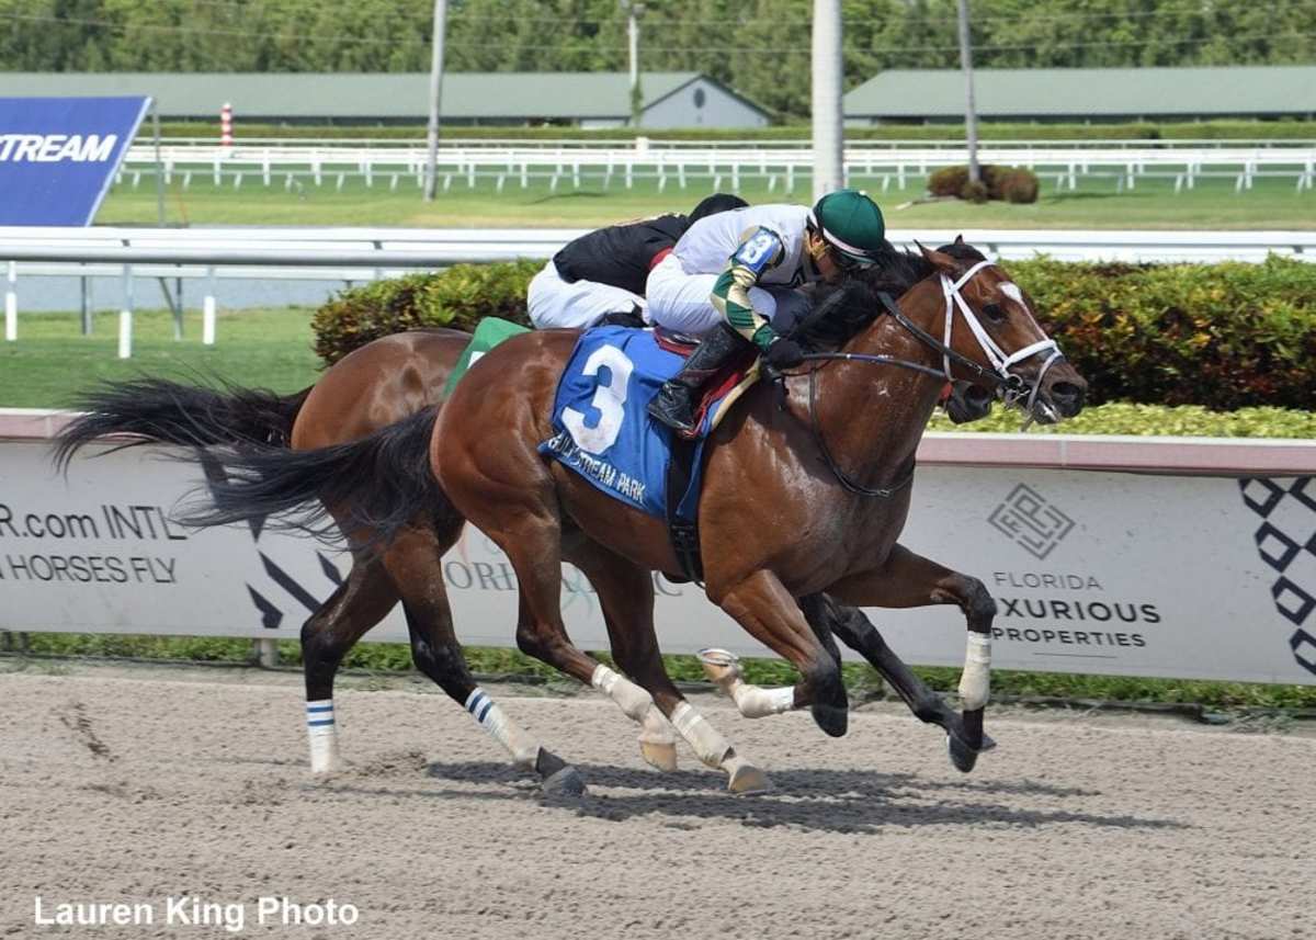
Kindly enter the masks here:
<path id="1" fill-rule="evenodd" d="M 538 774 L 545 793 L 578 795 L 584 781 L 575 768 L 520 728 L 466 666 L 453 631 L 453 610 L 443 587 L 443 552 L 457 541 L 462 520 L 441 521 L 434 529 L 411 529 L 390 545 L 384 566 L 403 599 L 416 667 L 466 708 L 490 736 L 512 756 L 512 762 Z"/>

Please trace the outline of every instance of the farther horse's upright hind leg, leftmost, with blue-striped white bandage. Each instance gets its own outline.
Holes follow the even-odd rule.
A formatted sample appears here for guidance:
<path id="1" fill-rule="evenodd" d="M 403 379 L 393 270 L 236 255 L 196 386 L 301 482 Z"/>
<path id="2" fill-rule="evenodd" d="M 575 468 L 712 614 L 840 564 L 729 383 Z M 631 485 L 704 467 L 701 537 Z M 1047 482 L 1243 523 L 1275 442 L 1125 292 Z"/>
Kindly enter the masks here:
<path id="1" fill-rule="evenodd" d="M 347 579 L 301 627 L 312 773 L 330 773 L 342 766 L 333 711 L 334 674 L 353 644 L 396 603 L 397 594 L 379 562 L 357 560 Z"/>

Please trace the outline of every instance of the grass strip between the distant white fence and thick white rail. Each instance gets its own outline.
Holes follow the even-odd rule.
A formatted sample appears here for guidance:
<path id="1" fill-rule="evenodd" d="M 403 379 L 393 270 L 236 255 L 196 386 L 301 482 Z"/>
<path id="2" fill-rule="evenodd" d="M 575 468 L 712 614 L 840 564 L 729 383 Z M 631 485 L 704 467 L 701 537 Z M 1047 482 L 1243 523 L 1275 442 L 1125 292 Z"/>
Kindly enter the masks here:
<path id="1" fill-rule="evenodd" d="M 1208 167 L 1209 169 L 1209 167 Z M 1109 171 L 1116 172 L 1116 167 Z M 1223 167 L 1221 171 L 1225 171 Z M 1003 228 L 1003 229 L 1312 229 L 1316 228 L 1316 192 L 1295 192 L 1294 178 L 1259 178 L 1246 192 L 1234 192 L 1233 175 L 1208 178 L 1196 188 L 1174 192 L 1173 179 L 1142 179 L 1137 188 L 1117 192 L 1113 176 L 1080 178 L 1074 192 L 1058 191 L 1054 178 L 1042 174 L 1041 199 L 1032 205 L 987 203 L 971 205 L 959 200 L 898 208 L 924 195 L 925 178 L 911 174 L 903 190 L 892 183 L 882 190 L 876 178 L 851 178 L 866 188 L 887 213 L 887 226 L 899 234 L 908 228 Z M 570 178 L 553 191 L 547 182 L 532 180 L 521 188 L 509 176 L 501 192 L 495 179 L 478 179 L 474 190 L 465 178 L 454 178 L 451 188 L 426 204 L 415 178 L 400 179 L 396 191 L 386 178 L 366 187 L 346 178 L 338 188 L 337 175 L 328 172 L 321 186 L 309 179 L 286 188 L 276 176 L 270 188 L 259 175 L 216 187 L 203 174 L 183 188 L 175 176 L 164 199 L 170 225 L 408 225 L 408 226 L 565 226 L 591 228 L 661 212 L 688 212 L 709 192 L 729 191 L 728 174 L 719 178 L 691 178 L 682 190 L 671 180 L 659 192 L 657 183 L 637 180 L 628 190 L 620 174 L 605 184 L 603 174 L 586 174 L 574 190 Z M 750 203 L 807 201 L 809 182 L 796 179 L 795 191 L 783 191 L 784 182 L 770 190 L 766 180 L 744 180 L 740 195 Z M 116 187 L 96 216 L 99 225 L 145 225 L 158 220 L 155 187 L 142 179 Z"/>

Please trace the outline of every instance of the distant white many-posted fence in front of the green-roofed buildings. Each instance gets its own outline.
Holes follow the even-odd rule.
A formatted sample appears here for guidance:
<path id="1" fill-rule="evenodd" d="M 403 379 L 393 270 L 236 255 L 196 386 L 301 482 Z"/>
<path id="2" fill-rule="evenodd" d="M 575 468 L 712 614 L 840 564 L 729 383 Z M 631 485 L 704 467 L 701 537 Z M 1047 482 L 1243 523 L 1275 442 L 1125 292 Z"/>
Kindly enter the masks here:
<path id="1" fill-rule="evenodd" d="M 899 146 L 894 146 L 899 144 Z M 1223 142 L 1208 146 L 1202 141 L 1028 141 L 987 142 L 979 150 L 984 163 L 1026 166 L 1054 186 L 1074 190 L 1080 178 L 1101 176 L 1123 188 L 1134 188 L 1140 179 L 1173 180 L 1175 192 L 1191 190 L 1200 179 L 1228 178 L 1237 191 L 1249 190 L 1258 178 L 1278 176 L 1294 182 L 1295 190 L 1316 183 L 1316 145 L 1298 141 L 1291 146 Z M 220 146 L 213 142 L 174 142 L 161 147 L 166 182 L 175 178 L 183 187 L 193 179 L 215 186 L 243 182 L 261 186 L 303 184 L 342 187 L 350 179 L 366 186 L 421 186 L 425 147 L 413 142 L 276 141 Z M 930 171 L 967 159 L 963 142 L 951 141 L 862 141 L 845 149 L 848 183 L 905 190 L 911 182 L 921 186 Z M 767 183 L 770 192 L 791 194 L 796 184 L 808 184 L 813 151 L 807 142 L 682 142 L 649 141 L 600 144 L 596 141 L 459 141 L 446 144 L 438 154 L 438 182 L 443 190 L 454 184 L 475 187 L 476 180 L 492 179 L 495 187 L 529 187 L 547 182 L 580 187 L 584 182 L 611 186 L 619 180 L 626 188 L 637 180 L 669 184 L 684 190 L 692 179 L 712 188 L 738 191 L 744 179 Z M 155 171 L 155 150 L 137 145 L 129 149 L 120 179 L 138 183 Z"/>

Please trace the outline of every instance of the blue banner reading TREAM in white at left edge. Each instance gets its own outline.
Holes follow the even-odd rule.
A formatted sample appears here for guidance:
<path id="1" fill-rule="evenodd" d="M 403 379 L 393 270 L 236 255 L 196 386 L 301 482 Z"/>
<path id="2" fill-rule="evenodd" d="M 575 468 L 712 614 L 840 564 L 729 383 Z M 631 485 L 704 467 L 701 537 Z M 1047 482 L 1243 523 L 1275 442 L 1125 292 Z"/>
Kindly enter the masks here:
<path id="1" fill-rule="evenodd" d="M 0 97 L 0 225 L 91 225 L 149 97 Z"/>

